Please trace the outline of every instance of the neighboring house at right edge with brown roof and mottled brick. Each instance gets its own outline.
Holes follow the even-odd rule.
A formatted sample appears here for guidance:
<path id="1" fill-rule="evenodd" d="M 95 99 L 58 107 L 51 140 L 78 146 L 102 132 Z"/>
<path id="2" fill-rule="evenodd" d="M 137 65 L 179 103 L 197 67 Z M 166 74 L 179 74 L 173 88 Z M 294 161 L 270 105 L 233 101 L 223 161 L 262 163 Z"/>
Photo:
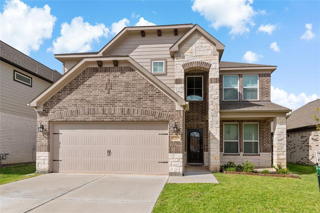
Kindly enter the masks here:
<path id="1" fill-rule="evenodd" d="M 320 157 L 320 131 L 316 131 L 316 120 L 320 118 L 320 100 L 312 101 L 294 110 L 287 119 L 287 161 L 316 165 L 315 151 Z"/>

